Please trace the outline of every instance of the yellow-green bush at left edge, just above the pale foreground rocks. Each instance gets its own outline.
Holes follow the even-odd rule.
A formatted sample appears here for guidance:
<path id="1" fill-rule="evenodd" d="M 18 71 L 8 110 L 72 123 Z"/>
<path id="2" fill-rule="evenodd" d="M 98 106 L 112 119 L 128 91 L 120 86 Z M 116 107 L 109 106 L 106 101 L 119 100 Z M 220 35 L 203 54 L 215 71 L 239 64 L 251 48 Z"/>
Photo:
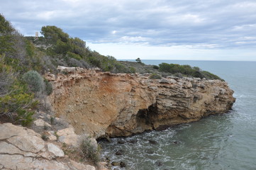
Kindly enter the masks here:
<path id="1" fill-rule="evenodd" d="M 28 125 L 33 121 L 33 109 L 38 102 L 28 92 L 26 84 L 16 78 L 12 68 L 0 56 L 0 117 L 1 120 Z"/>

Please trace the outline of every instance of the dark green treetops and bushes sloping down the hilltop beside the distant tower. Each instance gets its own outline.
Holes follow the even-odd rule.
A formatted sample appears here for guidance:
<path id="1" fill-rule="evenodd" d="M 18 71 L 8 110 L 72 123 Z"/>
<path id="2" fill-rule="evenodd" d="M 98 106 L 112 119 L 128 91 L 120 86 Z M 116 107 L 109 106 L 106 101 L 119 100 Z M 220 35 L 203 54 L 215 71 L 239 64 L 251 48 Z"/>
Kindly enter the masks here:
<path id="1" fill-rule="evenodd" d="M 128 68 L 123 69 L 125 66 L 120 67 L 120 63 L 114 57 L 91 51 L 89 47 L 86 47 L 86 42 L 79 38 L 70 38 L 67 33 L 56 26 L 43 26 L 41 33 L 46 41 L 42 38 L 40 41 L 50 43 L 46 50 L 47 54 L 52 58 L 58 57 L 62 60 L 62 65 L 85 68 L 99 67 L 104 72 L 130 72 Z"/>

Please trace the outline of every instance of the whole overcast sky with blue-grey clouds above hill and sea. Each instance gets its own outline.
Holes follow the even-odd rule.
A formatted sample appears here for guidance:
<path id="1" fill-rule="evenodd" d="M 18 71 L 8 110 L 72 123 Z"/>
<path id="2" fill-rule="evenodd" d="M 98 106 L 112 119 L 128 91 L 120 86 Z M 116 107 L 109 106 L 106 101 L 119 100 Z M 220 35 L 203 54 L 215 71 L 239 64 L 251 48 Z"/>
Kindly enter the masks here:
<path id="1" fill-rule="evenodd" d="M 23 35 L 57 26 L 117 59 L 256 60 L 255 0 L 0 0 Z"/>

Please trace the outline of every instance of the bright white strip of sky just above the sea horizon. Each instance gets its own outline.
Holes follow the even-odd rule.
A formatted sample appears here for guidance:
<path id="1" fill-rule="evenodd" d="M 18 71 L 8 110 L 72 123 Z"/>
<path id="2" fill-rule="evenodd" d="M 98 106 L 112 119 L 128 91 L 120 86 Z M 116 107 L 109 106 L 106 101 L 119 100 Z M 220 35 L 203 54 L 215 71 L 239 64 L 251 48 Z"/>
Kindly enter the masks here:
<path id="1" fill-rule="evenodd" d="M 217 50 L 187 48 L 186 46 L 160 47 L 133 44 L 104 43 L 94 44 L 88 42 L 92 50 L 103 55 L 111 55 L 118 60 L 247 60 L 256 61 L 255 50 Z"/>

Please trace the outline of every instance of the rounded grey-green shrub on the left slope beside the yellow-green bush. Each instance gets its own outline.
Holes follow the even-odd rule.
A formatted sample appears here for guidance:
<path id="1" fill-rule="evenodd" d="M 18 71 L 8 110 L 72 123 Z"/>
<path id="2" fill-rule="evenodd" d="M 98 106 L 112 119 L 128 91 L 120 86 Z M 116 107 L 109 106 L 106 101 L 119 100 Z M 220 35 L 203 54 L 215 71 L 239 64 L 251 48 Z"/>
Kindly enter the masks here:
<path id="1" fill-rule="evenodd" d="M 23 74 L 23 80 L 26 81 L 30 90 L 33 92 L 41 92 L 45 90 L 43 77 L 36 71 L 30 70 Z"/>

